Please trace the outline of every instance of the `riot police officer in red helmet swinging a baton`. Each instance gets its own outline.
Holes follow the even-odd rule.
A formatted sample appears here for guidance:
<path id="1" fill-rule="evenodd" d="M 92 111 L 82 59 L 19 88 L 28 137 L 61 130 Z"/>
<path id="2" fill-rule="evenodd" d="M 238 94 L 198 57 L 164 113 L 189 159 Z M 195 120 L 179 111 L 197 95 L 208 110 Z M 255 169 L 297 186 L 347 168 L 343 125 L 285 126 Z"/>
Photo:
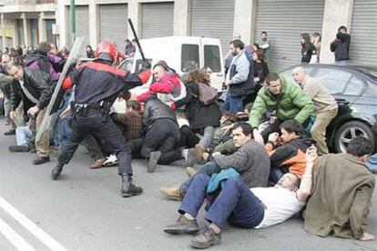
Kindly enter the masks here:
<path id="1" fill-rule="evenodd" d="M 75 85 L 72 135 L 63 145 L 51 176 L 56 180 L 83 137 L 92 135 L 106 140 L 112 152 L 117 155 L 118 174 L 122 179 L 122 196 L 138 196 L 143 190 L 132 181 L 131 150 L 117 126 L 108 117 L 108 113 L 119 93 L 148 81 L 151 75 L 150 65 L 146 62 L 141 73 L 129 74 L 112 66 L 115 56 L 115 45 L 103 41 L 97 45 L 96 60 L 79 65 L 66 77 L 63 83 L 65 90 Z"/>

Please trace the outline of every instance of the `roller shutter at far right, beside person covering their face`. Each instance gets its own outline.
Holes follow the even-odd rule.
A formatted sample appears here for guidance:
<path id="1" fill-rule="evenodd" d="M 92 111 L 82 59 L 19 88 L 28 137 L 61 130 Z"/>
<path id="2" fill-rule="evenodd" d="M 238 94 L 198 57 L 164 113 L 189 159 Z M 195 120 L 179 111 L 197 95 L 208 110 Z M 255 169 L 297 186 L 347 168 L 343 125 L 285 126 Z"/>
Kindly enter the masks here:
<path id="1" fill-rule="evenodd" d="M 350 57 L 352 63 L 377 65 L 377 1 L 354 0 Z"/>

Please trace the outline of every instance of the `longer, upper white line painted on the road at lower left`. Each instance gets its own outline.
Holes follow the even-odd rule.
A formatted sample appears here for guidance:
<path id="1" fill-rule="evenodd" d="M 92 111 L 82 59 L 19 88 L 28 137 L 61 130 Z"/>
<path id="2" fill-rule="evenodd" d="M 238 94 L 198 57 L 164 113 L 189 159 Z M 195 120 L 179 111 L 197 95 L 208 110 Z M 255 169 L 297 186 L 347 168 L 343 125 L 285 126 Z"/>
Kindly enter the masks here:
<path id="1" fill-rule="evenodd" d="M 2 207 L 9 216 L 12 216 L 20 225 L 24 226 L 33 236 L 36 236 L 43 244 L 54 251 L 66 251 L 64 246 L 61 246 L 57 241 L 43 231 L 39 226 L 36 226 L 30 219 L 19 212 L 15 206 L 10 205 L 3 197 L 0 196 L 0 207 Z"/>

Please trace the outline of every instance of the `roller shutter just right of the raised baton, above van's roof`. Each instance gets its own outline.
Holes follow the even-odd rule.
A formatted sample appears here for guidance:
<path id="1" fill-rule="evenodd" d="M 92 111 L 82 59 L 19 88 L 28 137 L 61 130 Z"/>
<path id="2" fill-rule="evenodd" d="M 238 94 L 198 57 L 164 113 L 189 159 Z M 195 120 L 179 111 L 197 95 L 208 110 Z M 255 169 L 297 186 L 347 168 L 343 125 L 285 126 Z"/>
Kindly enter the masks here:
<path id="1" fill-rule="evenodd" d="M 141 4 L 141 37 L 174 35 L 174 3 Z"/>

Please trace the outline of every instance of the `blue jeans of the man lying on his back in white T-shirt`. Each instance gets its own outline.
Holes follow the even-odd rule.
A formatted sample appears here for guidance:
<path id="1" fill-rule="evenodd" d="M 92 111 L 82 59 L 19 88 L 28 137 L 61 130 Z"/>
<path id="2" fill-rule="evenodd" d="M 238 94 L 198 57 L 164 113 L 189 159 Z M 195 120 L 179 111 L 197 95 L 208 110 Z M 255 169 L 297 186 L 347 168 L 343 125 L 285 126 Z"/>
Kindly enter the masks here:
<path id="1" fill-rule="evenodd" d="M 210 177 L 200 174 L 195 176 L 189 186 L 188 193 L 179 207 L 179 214 L 196 217 L 207 196 Z M 209 223 L 221 227 L 228 220 L 230 224 L 250 228 L 258 226 L 264 216 L 263 204 L 250 191 L 246 183 L 238 176 L 229 178 L 215 197 L 212 206 L 205 216 Z"/>

